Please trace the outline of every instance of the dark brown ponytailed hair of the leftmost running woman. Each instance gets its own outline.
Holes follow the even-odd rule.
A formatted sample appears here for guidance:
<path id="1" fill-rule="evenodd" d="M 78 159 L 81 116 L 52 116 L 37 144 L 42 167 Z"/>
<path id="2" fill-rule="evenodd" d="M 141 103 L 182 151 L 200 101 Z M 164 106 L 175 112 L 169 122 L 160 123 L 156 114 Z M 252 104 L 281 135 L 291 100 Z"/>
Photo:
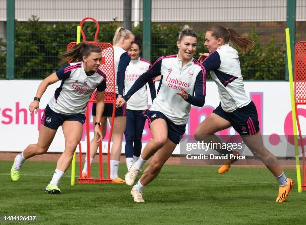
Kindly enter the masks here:
<path id="1" fill-rule="evenodd" d="M 59 66 L 68 64 L 70 60 L 72 60 L 72 62 L 83 61 L 83 56 L 88 57 L 91 52 L 101 53 L 101 49 L 96 45 L 88 44 L 87 42 L 79 43 L 68 52 L 59 55 Z"/>

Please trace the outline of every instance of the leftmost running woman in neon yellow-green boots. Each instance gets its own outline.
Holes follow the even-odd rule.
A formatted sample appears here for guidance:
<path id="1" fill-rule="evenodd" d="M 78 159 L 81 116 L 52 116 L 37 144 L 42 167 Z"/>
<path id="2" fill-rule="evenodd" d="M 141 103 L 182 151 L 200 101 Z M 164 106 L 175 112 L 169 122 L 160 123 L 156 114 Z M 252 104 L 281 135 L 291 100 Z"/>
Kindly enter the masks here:
<path id="1" fill-rule="evenodd" d="M 61 126 L 65 137 L 65 149 L 57 161 L 53 178 L 45 189 L 45 192 L 50 194 L 61 192 L 57 184 L 70 166 L 73 153 L 82 137 L 86 106 L 95 89 L 97 90 L 98 117 L 94 128 L 94 140 L 95 142 L 101 140 L 99 125 L 104 111 L 104 90 L 106 89 L 106 76 L 99 69 L 102 60 L 99 47 L 85 42 L 80 43 L 60 57 L 60 64 L 63 66 L 40 83 L 34 101 L 29 106 L 31 115 L 34 112 L 37 113 L 39 101 L 47 87 L 61 80 L 60 87 L 56 89 L 45 108 L 38 142 L 28 145 L 21 154 L 16 156 L 10 172 L 12 180 L 18 181 L 24 161 L 35 155 L 44 154 L 51 145 L 58 127 Z M 67 64 L 70 60 L 73 62 Z"/>

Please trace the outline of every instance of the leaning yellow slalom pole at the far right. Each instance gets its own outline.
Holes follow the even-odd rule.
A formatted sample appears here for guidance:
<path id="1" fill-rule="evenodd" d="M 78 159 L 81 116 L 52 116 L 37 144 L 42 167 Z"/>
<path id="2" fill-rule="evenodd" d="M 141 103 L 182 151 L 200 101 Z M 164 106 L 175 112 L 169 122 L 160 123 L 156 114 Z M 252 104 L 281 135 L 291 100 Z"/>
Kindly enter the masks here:
<path id="1" fill-rule="evenodd" d="M 293 135 L 294 135 L 294 146 L 295 146 L 297 188 L 298 192 L 301 192 L 302 189 L 301 189 L 301 176 L 300 176 L 299 152 L 298 152 L 298 141 L 297 141 L 295 97 L 294 97 L 294 87 L 293 87 L 293 71 L 292 71 L 292 57 L 291 57 L 291 44 L 290 44 L 291 42 L 290 42 L 289 28 L 286 28 L 286 42 L 287 42 L 288 70 L 289 70 L 291 106 L 292 106 L 292 122 L 293 122 Z"/>

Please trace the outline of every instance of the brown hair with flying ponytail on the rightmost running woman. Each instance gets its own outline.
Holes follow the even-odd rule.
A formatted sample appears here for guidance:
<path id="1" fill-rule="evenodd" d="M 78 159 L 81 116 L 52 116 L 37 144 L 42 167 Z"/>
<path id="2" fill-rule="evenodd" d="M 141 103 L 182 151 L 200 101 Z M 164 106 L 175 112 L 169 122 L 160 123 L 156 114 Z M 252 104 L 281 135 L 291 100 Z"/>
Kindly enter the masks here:
<path id="1" fill-rule="evenodd" d="M 239 48 L 244 55 L 249 49 L 254 47 L 255 42 L 249 36 L 242 36 L 238 34 L 235 30 L 231 28 L 225 28 L 223 26 L 214 26 L 208 31 L 211 32 L 211 35 L 218 39 L 222 38 L 224 43 L 231 43 L 235 47 Z"/>

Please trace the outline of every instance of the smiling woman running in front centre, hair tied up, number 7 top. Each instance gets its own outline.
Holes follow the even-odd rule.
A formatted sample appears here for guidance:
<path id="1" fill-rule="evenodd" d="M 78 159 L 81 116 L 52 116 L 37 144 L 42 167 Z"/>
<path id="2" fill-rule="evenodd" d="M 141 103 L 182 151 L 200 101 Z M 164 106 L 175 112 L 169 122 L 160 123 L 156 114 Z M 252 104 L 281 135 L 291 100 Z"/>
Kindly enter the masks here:
<path id="1" fill-rule="evenodd" d="M 142 190 L 158 176 L 164 163 L 179 144 L 186 130 L 191 105 L 202 107 L 205 103 L 206 72 L 193 58 L 197 44 L 196 33 L 185 27 L 176 44 L 178 54 L 157 59 L 152 67 L 136 80 L 127 94 L 117 99 L 117 107 L 121 107 L 145 83 L 161 74 L 158 95 L 147 111 L 152 138 L 125 175 L 126 184 L 133 185 L 139 170 L 154 155 L 150 165 L 131 190 L 135 202 L 144 202 Z"/>

